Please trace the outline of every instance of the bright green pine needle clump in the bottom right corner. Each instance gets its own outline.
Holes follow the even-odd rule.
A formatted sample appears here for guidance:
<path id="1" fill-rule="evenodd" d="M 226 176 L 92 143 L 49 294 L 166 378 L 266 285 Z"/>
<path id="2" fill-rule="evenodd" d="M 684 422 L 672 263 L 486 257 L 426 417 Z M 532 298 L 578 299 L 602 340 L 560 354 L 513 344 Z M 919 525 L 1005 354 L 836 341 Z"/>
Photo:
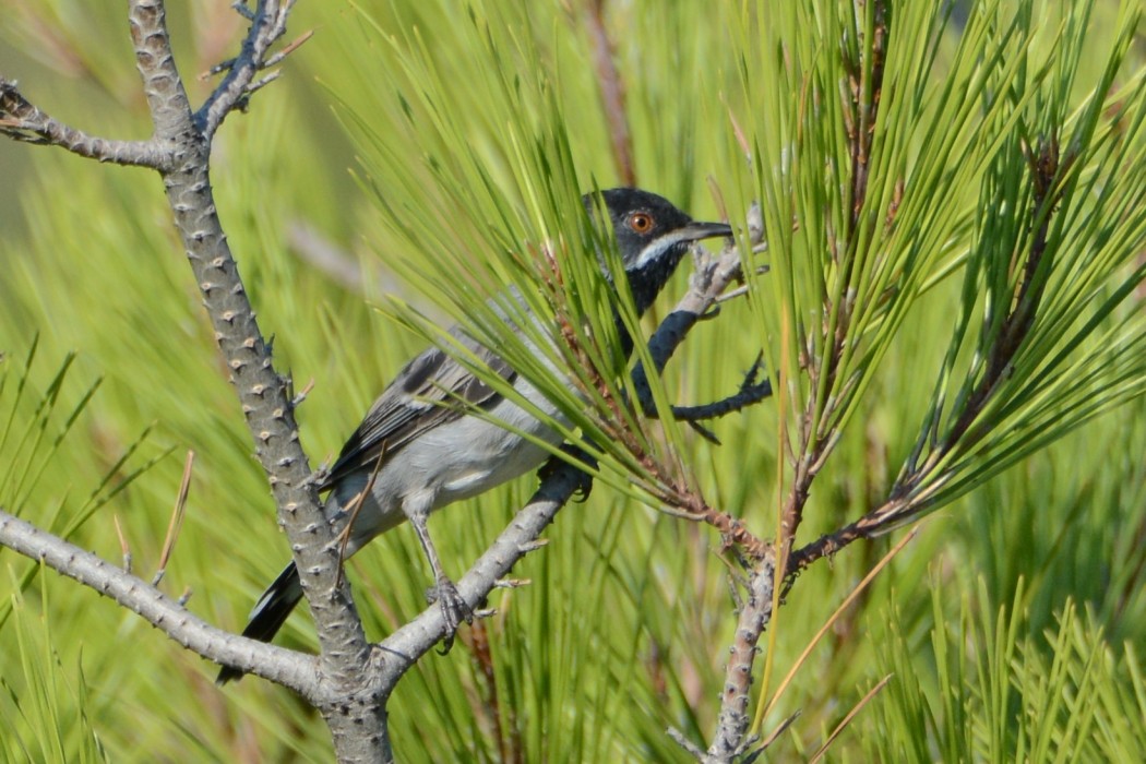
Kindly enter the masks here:
<path id="1" fill-rule="evenodd" d="M 1108 644 L 1091 614 L 1067 600 L 1058 622 L 1028 631 L 1023 588 L 992 616 L 984 586 L 947 616 L 933 588 L 936 627 L 916 645 L 893 616 L 881 635 L 882 671 L 900 678 L 861 723 L 869 761 L 1137 762 L 1146 756 L 1146 684 L 1133 643 Z M 934 675 L 913 667 L 934 661 Z"/>

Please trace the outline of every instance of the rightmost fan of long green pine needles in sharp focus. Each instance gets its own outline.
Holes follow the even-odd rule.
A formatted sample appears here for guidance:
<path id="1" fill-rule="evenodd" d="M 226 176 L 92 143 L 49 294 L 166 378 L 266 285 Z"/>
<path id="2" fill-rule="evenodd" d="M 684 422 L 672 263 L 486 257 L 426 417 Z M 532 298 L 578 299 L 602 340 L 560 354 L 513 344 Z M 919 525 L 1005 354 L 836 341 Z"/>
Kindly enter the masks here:
<path id="1" fill-rule="evenodd" d="M 1012 82 L 990 88 L 1005 94 L 997 101 L 1010 102 L 1019 140 L 1000 147 L 981 187 L 981 223 L 966 261 L 960 321 L 928 431 L 920 438 L 923 448 L 927 439 L 949 440 L 960 426 L 970 427 L 936 467 L 943 473 L 936 482 L 955 478 L 939 488 L 936 504 L 1146 389 L 1146 331 L 1131 297 L 1146 277 L 1136 262 L 1137 243 L 1146 234 L 1140 203 L 1146 180 L 1131 170 L 1146 156 L 1146 78 L 1139 72 L 1124 84 L 1116 81 L 1137 16 L 1125 8 L 1100 79 L 1075 105 L 1066 96 L 1076 86 L 1085 38 L 1070 34 L 1070 27 L 1085 24 L 1089 13 L 1085 6 L 1069 14 L 1062 41 L 1046 53 L 1029 62 L 1026 53 L 1015 56 L 1023 62 L 1020 72 L 1037 70 L 1026 93 Z M 1061 164 L 1049 168 L 1053 189 L 1041 192 L 1037 182 L 1017 182 L 1033 164 L 1045 162 L 1039 151 L 1060 147 Z M 1018 226 L 1007 210 L 1030 210 L 1033 225 Z M 1031 259 L 1036 251 L 1041 257 Z M 1025 275 L 1031 266 L 1034 271 Z M 976 395 L 976 386 L 991 375 L 991 344 L 1005 341 L 1007 314 L 1014 310 L 1021 318 L 1028 305 L 1038 310 L 1022 352 L 979 417 L 957 422 L 951 409 L 958 407 L 950 399 Z M 964 380 L 953 396 L 947 389 L 950 380 Z"/>

